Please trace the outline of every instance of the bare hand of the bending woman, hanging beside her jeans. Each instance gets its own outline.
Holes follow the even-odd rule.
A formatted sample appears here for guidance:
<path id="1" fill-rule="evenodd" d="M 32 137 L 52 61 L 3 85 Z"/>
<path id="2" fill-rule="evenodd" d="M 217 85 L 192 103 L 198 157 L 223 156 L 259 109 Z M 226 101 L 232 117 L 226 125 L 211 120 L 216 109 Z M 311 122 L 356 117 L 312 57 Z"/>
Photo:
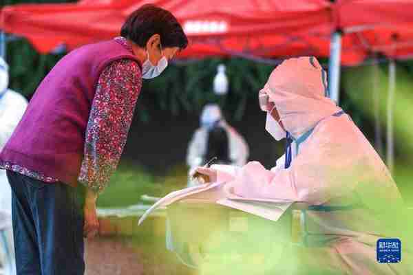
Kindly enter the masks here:
<path id="1" fill-rule="evenodd" d="M 87 189 L 85 207 L 83 208 L 83 214 L 85 215 L 85 224 L 83 225 L 83 236 L 87 239 L 93 238 L 98 234 L 99 221 L 98 214 L 96 213 L 96 200 L 98 195 L 96 192 Z"/>

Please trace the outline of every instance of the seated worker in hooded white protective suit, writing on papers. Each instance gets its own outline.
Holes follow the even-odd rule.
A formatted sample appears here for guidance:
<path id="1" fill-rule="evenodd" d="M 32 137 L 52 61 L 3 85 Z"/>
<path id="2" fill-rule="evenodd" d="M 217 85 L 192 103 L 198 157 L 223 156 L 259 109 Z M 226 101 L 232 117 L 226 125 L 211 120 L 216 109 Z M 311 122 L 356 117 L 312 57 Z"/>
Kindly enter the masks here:
<path id="1" fill-rule="evenodd" d="M 308 252 L 303 264 L 331 274 L 413 274 L 407 243 L 402 263 L 377 263 L 377 240 L 398 237 L 385 213 L 403 207 L 401 195 L 350 116 L 326 97 L 326 85 L 313 57 L 291 58 L 274 69 L 259 93 L 260 107 L 266 131 L 275 140 L 286 138 L 286 154 L 271 170 L 259 162 L 235 169 L 226 190 L 308 203 L 301 214 Z M 211 182 L 229 176 L 213 168 L 197 171 Z"/>

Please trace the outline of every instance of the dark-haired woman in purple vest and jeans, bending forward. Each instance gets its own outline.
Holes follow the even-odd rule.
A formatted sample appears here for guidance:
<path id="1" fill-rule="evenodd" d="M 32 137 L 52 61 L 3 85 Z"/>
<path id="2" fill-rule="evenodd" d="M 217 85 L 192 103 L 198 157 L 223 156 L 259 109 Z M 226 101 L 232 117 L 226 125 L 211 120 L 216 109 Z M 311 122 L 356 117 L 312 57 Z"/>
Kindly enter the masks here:
<path id="1" fill-rule="evenodd" d="M 176 18 L 149 4 L 120 35 L 64 56 L 0 153 L 18 275 L 84 274 L 83 236 L 98 232 L 96 199 L 118 165 L 142 78 L 159 76 L 188 44 Z"/>

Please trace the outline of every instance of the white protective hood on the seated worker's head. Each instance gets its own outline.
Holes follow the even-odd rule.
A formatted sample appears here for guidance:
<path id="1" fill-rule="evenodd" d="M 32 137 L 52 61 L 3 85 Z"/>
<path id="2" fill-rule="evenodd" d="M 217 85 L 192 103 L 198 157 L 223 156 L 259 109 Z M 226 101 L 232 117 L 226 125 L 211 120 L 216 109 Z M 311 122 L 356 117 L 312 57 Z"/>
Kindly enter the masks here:
<path id="1" fill-rule="evenodd" d="M 327 95 L 327 76 L 313 56 L 290 58 L 276 67 L 264 87 L 286 131 L 297 138 L 339 111 Z"/>

